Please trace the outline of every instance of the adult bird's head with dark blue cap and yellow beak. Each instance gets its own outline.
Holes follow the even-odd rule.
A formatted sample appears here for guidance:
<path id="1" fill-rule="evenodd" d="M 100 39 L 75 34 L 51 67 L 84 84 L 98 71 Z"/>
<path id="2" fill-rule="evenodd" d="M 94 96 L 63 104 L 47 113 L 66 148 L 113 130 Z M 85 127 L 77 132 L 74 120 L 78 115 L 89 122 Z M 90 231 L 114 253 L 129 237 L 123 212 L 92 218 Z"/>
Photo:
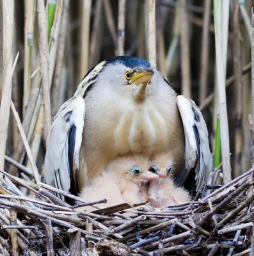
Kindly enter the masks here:
<path id="1" fill-rule="evenodd" d="M 143 102 L 153 76 L 154 70 L 148 61 L 136 57 L 118 56 L 106 60 L 99 79 L 108 86 L 113 86 L 113 90 L 117 90 L 122 95 L 130 93 L 136 102 Z"/>

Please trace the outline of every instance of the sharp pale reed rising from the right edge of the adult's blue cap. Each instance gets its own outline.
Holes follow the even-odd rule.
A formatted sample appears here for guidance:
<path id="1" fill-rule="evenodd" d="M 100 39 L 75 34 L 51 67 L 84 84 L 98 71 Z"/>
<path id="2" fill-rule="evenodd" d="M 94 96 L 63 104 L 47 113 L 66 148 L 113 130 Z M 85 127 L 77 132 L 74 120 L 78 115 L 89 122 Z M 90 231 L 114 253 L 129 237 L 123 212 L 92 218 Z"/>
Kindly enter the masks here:
<path id="1" fill-rule="evenodd" d="M 147 58 L 153 67 L 157 67 L 156 57 L 155 0 L 147 0 Z"/>

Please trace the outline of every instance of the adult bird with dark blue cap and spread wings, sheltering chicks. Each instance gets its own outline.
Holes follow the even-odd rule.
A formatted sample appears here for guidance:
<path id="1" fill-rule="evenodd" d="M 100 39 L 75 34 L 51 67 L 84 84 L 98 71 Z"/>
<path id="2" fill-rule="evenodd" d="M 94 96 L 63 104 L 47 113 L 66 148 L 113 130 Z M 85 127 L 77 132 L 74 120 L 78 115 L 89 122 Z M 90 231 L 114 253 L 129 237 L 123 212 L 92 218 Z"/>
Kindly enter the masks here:
<path id="1" fill-rule="evenodd" d="M 176 180 L 190 173 L 202 188 L 212 167 L 208 132 L 193 100 L 141 58 L 104 60 L 86 74 L 55 116 L 45 156 L 45 181 L 76 192 L 116 156 L 170 151 Z"/>

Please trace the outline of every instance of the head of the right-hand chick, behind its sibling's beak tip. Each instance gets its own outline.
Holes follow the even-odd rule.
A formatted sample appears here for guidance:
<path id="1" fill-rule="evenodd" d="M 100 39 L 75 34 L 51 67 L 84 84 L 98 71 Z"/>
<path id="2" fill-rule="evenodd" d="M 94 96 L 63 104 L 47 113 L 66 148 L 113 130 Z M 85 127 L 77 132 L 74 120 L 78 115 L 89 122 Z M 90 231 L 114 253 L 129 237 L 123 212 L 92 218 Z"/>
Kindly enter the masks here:
<path id="1" fill-rule="evenodd" d="M 166 178 L 173 170 L 174 162 L 170 154 L 161 154 L 156 156 L 150 166 L 150 172 L 159 175 L 160 178 Z"/>

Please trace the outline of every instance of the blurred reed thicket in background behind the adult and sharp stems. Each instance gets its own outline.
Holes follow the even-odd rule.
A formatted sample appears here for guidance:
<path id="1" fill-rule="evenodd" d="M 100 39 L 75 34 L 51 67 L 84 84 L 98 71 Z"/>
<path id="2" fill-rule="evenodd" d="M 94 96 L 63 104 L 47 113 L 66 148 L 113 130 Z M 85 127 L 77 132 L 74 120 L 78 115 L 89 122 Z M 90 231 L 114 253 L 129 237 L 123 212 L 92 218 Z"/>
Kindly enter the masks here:
<path id="1" fill-rule="evenodd" d="M 214 152 L 218 97 L 213 1 L 156 0 L 155 3 L 157 69 L 177 93 L 190 97 L 200 106 Z M 19 59 L 13 74 L 12 100 L 40 169 L 44 163 L 45 138 L 42 132 L 44 112 L 40 108 L 36 4 L 35 0 L 14 1 L 12 49 L 13 60 L 18 51 Z M 121 50 L 124 55 L 147 59 L 145 0 L 48 0 L 45 4 L 52 118 L 91 67 L 118 55 L 120 40 L 124 42 Z M 228 31 L 224 31 L 228 33 L 226 100 L 233 178 L 251 166 L 248 120 L 251 113 L 251 6 L 251 0 L 230 1 Z M 0 56 L 3 56 L 2 0 L 0 18 Z M 6 156 L 31 170 L 12 112 Z M 5 159 L 4 169 L 16 175 L 17 168 L 9 164 L 8 157 Z M 20 174 L 26 179 L 26 174 Z"/>

